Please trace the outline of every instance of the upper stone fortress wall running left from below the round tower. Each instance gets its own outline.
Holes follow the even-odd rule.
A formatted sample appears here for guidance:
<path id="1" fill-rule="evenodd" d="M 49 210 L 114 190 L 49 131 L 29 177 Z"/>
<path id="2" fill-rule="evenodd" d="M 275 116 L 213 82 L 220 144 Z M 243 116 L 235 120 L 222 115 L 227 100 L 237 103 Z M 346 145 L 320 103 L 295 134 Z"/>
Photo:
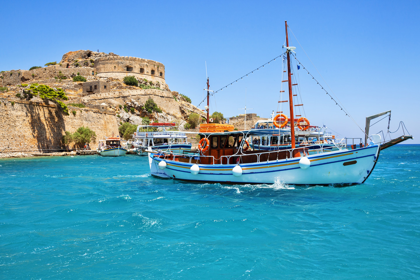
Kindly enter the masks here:
<path id="1" fill-rule="evenodd" d="M 48 67 L 38 68 L 34 70 L 12 70 L 5 71 L 0 74 L 3 76 L 3 86 L 11 86 L 17 84 L 29 84 L 36 80 L 50 79 L 58 76 L 59 72 L 70 79 L 71 74 L 80 73 L 81 76 L 90 76 L 95 68 L 62 68 L 60 65 L 51 65 Z M 32 76 L 34 75 L 34 76 Z"/>

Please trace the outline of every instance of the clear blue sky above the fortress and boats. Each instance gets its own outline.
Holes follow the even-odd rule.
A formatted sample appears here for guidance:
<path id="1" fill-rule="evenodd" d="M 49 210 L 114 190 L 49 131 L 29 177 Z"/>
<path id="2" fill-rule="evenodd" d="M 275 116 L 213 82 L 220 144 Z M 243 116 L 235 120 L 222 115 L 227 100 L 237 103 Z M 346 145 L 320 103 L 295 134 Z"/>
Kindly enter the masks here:
<path id="1" fill-rule="evenodd" d="M 38 2 L 38 1 L 37 1 Z M 284 21 L 364 128 L 365 117 L 392 110 L 391 131 L 403 120 L 420 143 L 418 1 L 3 1 L 0 70 L 59 61 L 74 50 L 100 50 L 165 65 L 171 90 L 198 105 L 207 73 L 218 90 L 283 52 Z M 291 36 L 297 58 L 318 73 Z M 347 137 L 359 128 L 299 70 L 306 117 Z M 322 81 L 322 85 L 326 87 Z M 281 60 L 212 99 L 225 117 L 269 117 L 277 110 Z M 387 128 L 382 121 L 371 132 Z M 402 131 L 401 131 L 402 133 Z M 401 133 L 395 133 L 399 136 Z"/>

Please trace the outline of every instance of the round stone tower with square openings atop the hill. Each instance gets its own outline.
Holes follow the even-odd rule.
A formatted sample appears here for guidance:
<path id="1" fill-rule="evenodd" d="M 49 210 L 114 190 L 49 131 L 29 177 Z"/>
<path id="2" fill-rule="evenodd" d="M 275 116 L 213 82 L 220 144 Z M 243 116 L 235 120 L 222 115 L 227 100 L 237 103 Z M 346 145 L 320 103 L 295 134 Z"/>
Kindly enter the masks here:
<path id="1" fill-rule="evenodd" d="M 94 61 L 97 76 L 123 80 L 125 76 L 158 81 L 165 85 L 165 65 L 154 60 L 131 56 L 108 56 Z"/>

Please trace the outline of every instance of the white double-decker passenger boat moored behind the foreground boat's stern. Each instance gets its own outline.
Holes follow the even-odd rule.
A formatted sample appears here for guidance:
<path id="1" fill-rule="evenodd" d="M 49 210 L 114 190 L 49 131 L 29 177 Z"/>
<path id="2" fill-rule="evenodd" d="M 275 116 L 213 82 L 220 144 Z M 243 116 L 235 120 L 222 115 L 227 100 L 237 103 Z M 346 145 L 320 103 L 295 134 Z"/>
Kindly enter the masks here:
<path id="1" fill-rule="evenodd" d="M 184 132 L 176 131 L 175 123 L 153 123 L 148 126 L 137 126 L 131 145 L 139 155 L 147 155 L 144 152 L 147 147 L 152 151 L 160 150 L 178 154 L 189 154 L 192 144 L 188 143 Z"/>

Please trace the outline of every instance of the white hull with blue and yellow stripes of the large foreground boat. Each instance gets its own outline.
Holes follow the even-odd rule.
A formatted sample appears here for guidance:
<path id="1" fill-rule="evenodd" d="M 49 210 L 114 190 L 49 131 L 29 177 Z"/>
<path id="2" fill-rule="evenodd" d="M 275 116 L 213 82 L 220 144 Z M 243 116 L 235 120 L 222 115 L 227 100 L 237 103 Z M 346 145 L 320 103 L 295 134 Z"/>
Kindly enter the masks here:
<path id="1" fill-rule="evenodd" d="M 167 160 L 166 168 L 159 169 L 159 162 L 163 159 L 149 155 L 150 171 L 152 175 L 163 178 L 175 178 L 182 181 L 205 181 L 218 183 L 267 183 L 276 181 L 294 185 L 353 185 L 365 182 L 372 173 L 378 160 L 378 145 L 372 145 L 354 150 L 340 150 L 326 152 L 321 155 L 306 156 L 310 160 L 310 167 L 302 169 L 299 160 L 302 157 L 274 160 L 268 162 L 239 164 L 242 175 L 236 177 L 231 165 L 200 165 L 197 175 L 190 171 L 194 163 Z"/>

